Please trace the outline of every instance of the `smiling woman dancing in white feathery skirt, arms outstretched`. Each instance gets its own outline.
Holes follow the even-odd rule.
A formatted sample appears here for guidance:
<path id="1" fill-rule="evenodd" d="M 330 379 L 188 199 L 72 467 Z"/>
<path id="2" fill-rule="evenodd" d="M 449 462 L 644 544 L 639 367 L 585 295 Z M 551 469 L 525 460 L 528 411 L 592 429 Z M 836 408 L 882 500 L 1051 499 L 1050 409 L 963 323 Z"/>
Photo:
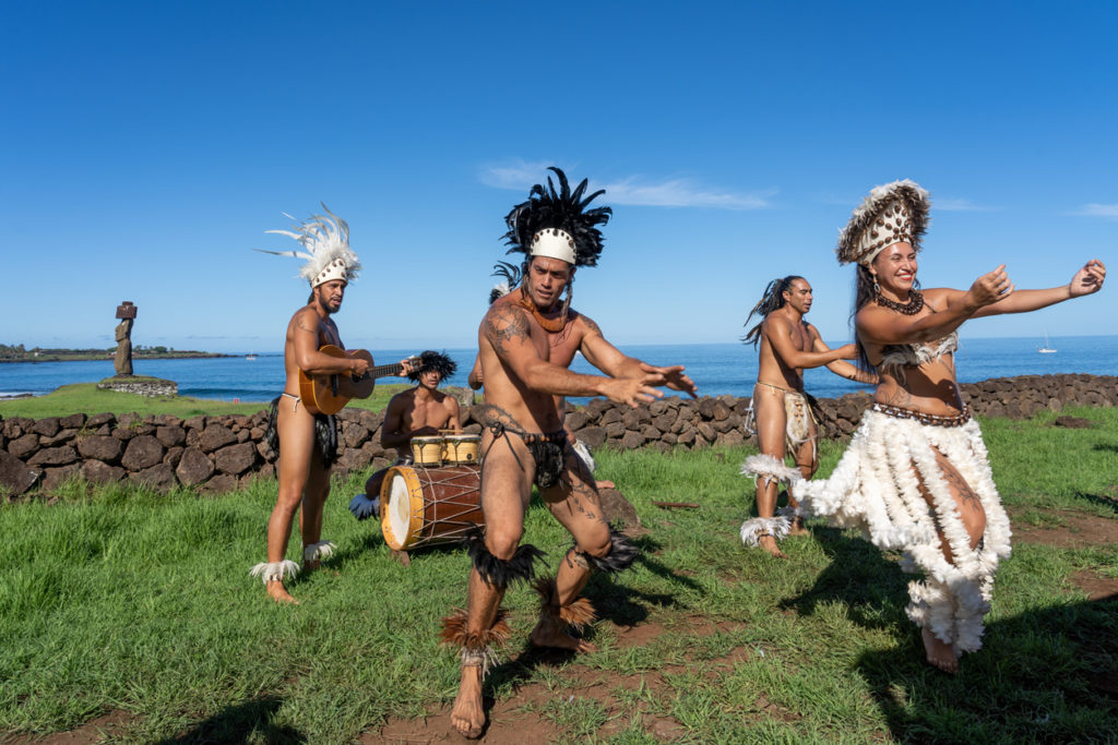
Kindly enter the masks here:
<path id="1" fill-rule="evenodd" d="M 793 494 L 809 514 L 904 552 L 901 567 L 923 574 L 909 583 L 906 612 L 928 661 L 955 672 L 961 652 L 982 647 L 994 572 L 1010 555 L 1010 520 L 956 383 L 956 329 L 1097 293 L 1106 268 L 1092 259 L 1067 285 L 1015 290 L 1002 265 L 968 290 L 921 292 L 916 255 L 928 207 L 911 181 L 878 187 L 839 239 L 839 262 L 858 265 L 859 356 L 880 383 L 831 478 L 799 480 Z"/>

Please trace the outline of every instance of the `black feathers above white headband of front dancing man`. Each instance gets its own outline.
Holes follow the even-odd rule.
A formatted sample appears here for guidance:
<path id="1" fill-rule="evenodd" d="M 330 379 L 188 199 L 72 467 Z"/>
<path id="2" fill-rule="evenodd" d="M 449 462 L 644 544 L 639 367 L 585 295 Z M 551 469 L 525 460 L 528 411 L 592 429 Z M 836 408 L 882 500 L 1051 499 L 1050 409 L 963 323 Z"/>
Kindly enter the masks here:
<path id="1" fill-rule="evenodd" d="M 559 191 L 556 191 L 551 176 L 548 184 L 536 184 L 528 193 L 528 201 L 517 204 L 504 221 L 509 232 L 504 233 L 509 254 L 520 252 L 532 256 L 532 242 L 537 235 L 547 229 L 558 229 L 574 240 L 575 266 L 593 267 L 601 255 L 601 231 L 597 226 L 606 225 L 614 211 L 608 207 L 586 209 L 598 195 L 606 193 L 604 189 L 586 197 L 587 180 L 570 189 L 567 174 L 551 166 L 559 180 Z"/>

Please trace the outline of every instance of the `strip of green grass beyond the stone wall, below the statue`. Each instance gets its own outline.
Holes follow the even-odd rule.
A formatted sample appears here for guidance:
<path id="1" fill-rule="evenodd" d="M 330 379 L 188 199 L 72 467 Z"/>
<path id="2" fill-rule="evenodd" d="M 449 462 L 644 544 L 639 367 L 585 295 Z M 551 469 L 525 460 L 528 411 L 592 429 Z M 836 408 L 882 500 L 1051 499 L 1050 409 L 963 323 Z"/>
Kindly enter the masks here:
<path id="1" fill-rule="evenodd" d="M 388 405 L 388 400 L 408 388 L 406 384 L 394 383 L 378 385 L 372 395 L 363 400 L 353 400 L 351 408 L 380 411 Z M 278 394 L 278 390 L 276 393 Z M 111 411 L 115 414 L 134 412 L 139 414 L 171 414 L 180 419 L 189 419 L 199 414 L 253 414 L 264 409 L 265 402 L 230 403 L 212 399 L 192 399 L 184 395 L 148 398 L 135 393 L 119 393 L 102 391 L 96 383 L 73 383 L 63 385 L 47 395 L 27 399 L 0 401 L 0 417 L 28 417 L 45 419 L 47 417 L 66 417 L 73 413 L 96 414 Z"/>

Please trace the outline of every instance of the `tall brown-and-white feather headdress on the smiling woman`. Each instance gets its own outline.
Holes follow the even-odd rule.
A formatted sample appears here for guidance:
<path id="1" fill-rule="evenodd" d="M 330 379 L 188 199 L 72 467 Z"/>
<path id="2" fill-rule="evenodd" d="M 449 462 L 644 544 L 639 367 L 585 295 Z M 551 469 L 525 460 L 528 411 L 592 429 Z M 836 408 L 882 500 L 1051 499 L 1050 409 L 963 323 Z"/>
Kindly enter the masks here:
<path id="1" fill-rule="evenodd" d="M 928 229 L 929 208 L 928 192 L 908 179 L 874 187 L 839 236 L 839 264 L 870 264 L 882 250 L 901 241 L 919 251 Z"/>

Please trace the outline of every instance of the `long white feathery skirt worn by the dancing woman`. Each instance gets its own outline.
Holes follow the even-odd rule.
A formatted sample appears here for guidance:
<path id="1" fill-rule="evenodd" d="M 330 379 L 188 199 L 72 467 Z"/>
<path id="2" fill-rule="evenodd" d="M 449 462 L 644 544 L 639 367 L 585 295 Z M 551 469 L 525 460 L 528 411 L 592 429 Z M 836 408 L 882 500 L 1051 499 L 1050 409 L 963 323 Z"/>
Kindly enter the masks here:
<path id="1" fill-rule="evenodd" d="M 860 528 L 882 551 L 903 551 L 901 569 L 925 575 L 909 583 L 908 617 L 956 651 L 975 651 L 982 647 L 994 573 L 1010 555 L 1010 520 L 978 422 L 967 411 L 937 423 L 921 419 L 928 416 L 871 407 L 831 478 L 794 480 L 792 494 L 805 513 L 826 516 L 837 527 Z M 986 513 L 976 548 L 970 548 L 937 453 L 966 480 Z M 932 505 L 920 493 L 921 481 Z M 954 563 L 944 557 L 937 527 Z"/>

